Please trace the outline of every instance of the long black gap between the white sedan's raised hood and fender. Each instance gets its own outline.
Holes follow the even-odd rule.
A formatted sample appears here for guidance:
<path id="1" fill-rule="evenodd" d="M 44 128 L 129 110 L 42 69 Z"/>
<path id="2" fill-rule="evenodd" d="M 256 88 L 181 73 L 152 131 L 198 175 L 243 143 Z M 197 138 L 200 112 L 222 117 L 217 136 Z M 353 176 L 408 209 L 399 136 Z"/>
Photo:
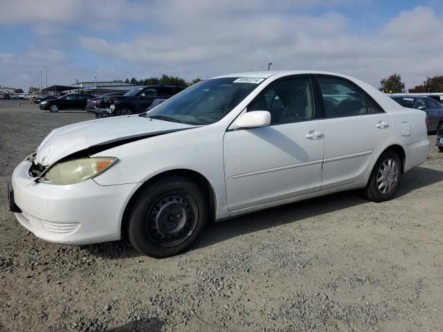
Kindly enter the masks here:
<path id="1" fill-rule="evenodd" d="M 49 169 L 51 169 L 53 166 L 55 166 L 58 163 L 61 163 L 63 161 L 69 160 L 69 159 L 89 158 L 90 156 L 93 156 L 94 154 L 98 154 L 101 151 L 112 149 L 113 147 L 118 147 L 120 145 L 125 145 L 130 142 L 135 142 L 137 140 L 144 140 L 145 138 L 161 136 L 161 135 L 165 135 L 166 133 L 175 133 L 177 131 L 183 131 L 183 130 L 198 128 L 198 127 L 201 127 L 201 126 L 154 131 L 152 133 L 139 133 L 137 135 L 115 138 L 114 140 L 107 140 L 106 142 L 101 142 L 96 145 L 91 145 L 90 147 L 87 147 L 87 148 L 79 150 L 79 151 L 75 151 L 72 154 L 64 156 L 64 157 L 60 158 L 59 160 L 55 161 L 54 163 L 52 163 L 51 165 L 48 165 L 44 169 L 42 174 L 40 174 L 39 178 L 44 176 L 49 171 Z"/>

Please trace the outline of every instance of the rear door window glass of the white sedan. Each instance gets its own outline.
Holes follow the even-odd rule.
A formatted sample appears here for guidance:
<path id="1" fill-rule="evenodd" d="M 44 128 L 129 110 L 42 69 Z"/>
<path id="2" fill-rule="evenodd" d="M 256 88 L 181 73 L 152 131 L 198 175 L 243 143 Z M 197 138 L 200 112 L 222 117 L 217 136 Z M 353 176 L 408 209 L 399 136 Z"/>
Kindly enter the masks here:
<path id="1" fill-rule="evenodd" d="M 318 84 L 323 96 L 326 118 L 366 113 L 363 92 L 351 82 L 335 77 L 318 77 Z"/>

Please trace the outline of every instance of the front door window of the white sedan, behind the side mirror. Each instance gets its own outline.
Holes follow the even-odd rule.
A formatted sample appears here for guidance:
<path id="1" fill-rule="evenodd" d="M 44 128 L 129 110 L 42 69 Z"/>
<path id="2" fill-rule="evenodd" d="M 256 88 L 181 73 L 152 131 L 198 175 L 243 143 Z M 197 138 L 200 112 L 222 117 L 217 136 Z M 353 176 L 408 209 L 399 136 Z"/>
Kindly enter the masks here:
<path id="1" fill-rule="evenodd" d="M 296 76 L 269 84 L 247 107 L 248 111 L 269 111 L 271 125 L 314 118 L 311 80 Z"/>

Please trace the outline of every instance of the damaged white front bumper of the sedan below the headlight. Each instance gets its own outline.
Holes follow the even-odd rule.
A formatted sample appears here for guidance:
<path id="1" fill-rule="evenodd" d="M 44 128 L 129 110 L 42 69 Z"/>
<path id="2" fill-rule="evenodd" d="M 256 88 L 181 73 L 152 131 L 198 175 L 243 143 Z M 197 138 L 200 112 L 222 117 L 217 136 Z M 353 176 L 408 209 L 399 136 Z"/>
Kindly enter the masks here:
<path id="1" fill-rule="evenodd" d="M 75 185 L 37 183 L 26 158 L 12 174 L 19 223 L 36 237 L 55 243 L 87 244 L 121 237 L 120 225 L 137 183 L 98 185 L 92 179 Z"/>

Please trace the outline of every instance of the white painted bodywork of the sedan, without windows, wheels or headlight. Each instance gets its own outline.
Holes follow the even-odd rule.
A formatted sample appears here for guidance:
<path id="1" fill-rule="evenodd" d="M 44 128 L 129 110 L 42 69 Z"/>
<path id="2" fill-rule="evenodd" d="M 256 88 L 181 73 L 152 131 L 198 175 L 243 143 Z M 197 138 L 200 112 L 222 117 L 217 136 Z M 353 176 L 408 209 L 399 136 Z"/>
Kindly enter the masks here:
<path id="1" fill-rule="evenodd" d="M 351 80 L 386 113 L 228 131 L 249 102 L 274 80 L 316 73 Z M 190 169 L 204 176 L 215 194 L 216 218 L 225 219 L 364 187 L 377 158 L 390 145 L 404 149 L 405 171 L 426 160 L 429 142 L 425 113 L 401 107 L 360 80 L 315 71 L 265 71 L 223 77 L 265 80 L 219 122 L 204 127 L 129 116 L 82 122 L 51 132 L 37 151 L 37 161 L 43 165 L 109 140 L 190 128 L 101 151 L 94 156 L 114 156 L 118 163 L 93 180 L 76 185 L 37 184 L 28 175 L 30 162 L 24 160 L 12 174 L 15 199 L 23 211 L 17 219 L 48 241 L 111 241 L 120 239 L 123 212 L 134 192 L 145 181 L 168 170 Z M 388 129 L 375 127 L 379 120 L 388 122 Z M 404 122 L 410 124 L 408 136 L 402 135 Z M 305 138 L 311 130 L 324 136 Z"/>

